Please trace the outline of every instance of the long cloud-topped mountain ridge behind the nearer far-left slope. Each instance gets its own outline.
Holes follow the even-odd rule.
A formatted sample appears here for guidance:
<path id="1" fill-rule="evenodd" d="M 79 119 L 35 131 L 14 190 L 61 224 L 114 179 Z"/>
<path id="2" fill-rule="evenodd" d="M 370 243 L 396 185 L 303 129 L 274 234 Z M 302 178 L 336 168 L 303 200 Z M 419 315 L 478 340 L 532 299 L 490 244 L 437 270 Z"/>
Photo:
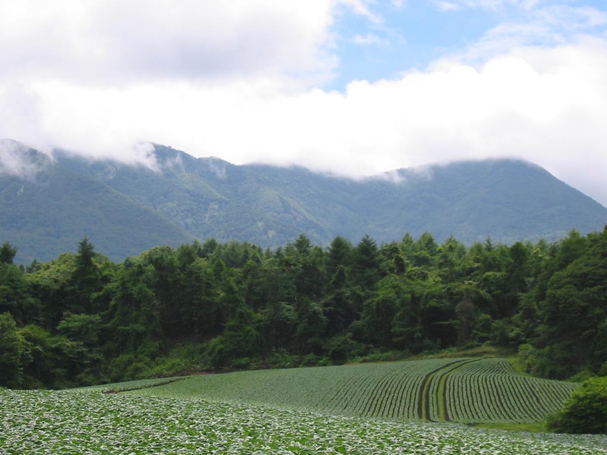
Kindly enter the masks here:
<path id="1" fill-rule="evenodd" d="M 159 211 L 198 238 L 276 246 L 305 232 L 378 241 L 424 231 L 466 243 L 561 238 L 607 223 L 607 209 L 546 170 L 517 160 L 462 161 L 354 181 L 300 167 L 234 166 L 156 147 L 160 172 L 65 160 Z M 135 183 L 136 182 L 136 183 Z"/>

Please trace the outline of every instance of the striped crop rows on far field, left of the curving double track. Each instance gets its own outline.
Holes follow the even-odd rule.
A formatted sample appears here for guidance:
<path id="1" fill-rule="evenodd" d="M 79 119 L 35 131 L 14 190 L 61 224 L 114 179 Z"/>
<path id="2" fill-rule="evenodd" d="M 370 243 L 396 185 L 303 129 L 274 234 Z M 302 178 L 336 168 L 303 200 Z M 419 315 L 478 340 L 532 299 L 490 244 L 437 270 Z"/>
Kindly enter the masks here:
<path id="1" fill-rule="evenodd" d="M 453 360 L 365 363 L 192 377 L 137 394 L 263 403 L 345 416 L 415 419 L 424 377 Z"/>

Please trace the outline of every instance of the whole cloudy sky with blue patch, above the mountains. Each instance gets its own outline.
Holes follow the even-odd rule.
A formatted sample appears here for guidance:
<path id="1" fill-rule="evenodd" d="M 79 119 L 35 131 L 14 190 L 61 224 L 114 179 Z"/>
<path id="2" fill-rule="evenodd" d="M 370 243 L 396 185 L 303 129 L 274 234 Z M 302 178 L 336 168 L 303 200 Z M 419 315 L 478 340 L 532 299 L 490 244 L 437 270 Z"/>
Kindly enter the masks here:
<path id="1" fill-rule="evenodd" d="M 0 0 L 0 138 L 44 152 L 513 157 L 607 206 L 606 81 L 607 0 Z"/>

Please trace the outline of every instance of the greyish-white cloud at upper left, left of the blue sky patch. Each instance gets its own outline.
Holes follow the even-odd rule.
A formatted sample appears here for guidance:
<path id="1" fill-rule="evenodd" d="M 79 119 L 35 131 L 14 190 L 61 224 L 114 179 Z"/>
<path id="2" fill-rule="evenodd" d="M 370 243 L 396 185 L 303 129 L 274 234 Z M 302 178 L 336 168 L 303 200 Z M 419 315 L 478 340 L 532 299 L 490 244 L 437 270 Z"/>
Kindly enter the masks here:
<path id="1" fill-rule="evenodd" d="M 328 73 L 334 61 L 322 46 L 333 8 L 333 0 L 0 2 L 0 79 Z"/>

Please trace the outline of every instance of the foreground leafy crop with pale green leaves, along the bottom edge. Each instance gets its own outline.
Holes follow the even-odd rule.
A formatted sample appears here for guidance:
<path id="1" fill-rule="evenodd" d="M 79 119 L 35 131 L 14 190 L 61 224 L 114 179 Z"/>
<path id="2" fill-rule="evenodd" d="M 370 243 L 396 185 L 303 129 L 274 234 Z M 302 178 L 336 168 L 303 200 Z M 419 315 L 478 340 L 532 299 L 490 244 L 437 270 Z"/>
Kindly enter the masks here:
<path id="1" fill-rule="evenodd" d="M 606 453 L 605 437 L 476 430 L 263 405 L 0 389 L 2 453 Z"/>

